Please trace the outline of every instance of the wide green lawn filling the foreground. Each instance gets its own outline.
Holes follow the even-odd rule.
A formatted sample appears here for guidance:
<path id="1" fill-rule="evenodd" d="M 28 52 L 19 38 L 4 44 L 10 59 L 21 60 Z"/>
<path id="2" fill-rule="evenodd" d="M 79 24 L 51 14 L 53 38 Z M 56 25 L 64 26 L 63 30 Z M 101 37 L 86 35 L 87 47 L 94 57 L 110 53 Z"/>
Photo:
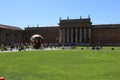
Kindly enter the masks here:
<path id="1" fill-rule="evenodd" d="M 120 50 L 0 53 L 0 76 L 6 80 L 119 80 Z"/>

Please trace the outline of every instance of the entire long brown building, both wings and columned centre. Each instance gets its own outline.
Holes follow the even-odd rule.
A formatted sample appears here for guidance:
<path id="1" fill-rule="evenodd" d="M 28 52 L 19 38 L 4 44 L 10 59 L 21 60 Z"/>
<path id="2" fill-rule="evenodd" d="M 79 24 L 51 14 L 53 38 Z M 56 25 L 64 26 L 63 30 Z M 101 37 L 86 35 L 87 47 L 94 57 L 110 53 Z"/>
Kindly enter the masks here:
<path id="1" fill-rule="evenodd" d="M 40 34 L 44 43 L 119 45 L 120 24 L 92 25 L 91 18 L 61 19 L 59 26 L 26 27 L 21 29 L 0 24 L 0 44 L 25 43 Z"/>

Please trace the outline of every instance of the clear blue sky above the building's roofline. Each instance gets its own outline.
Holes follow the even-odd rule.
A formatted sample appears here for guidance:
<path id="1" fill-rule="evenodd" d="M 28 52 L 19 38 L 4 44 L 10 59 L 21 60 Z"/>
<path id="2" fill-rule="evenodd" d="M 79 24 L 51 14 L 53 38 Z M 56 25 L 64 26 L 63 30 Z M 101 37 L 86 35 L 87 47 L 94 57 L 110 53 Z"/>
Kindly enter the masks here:
<path id="1" fill-rule="evenodd" d="M 87 18 L 93 24 L 120 23 L 120 0 L 1 0 L 0 24 L 53 26 L 59 17 Z"/>

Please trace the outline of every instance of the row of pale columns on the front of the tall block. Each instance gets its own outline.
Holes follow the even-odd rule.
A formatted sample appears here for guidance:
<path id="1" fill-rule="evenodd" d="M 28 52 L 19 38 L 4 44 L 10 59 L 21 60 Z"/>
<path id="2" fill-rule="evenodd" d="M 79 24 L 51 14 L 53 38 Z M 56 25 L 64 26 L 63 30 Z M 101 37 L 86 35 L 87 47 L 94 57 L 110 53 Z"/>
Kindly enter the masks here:
<path id="1" fill-rule="evenodd" d="M 64 43 L 85 43 L 91 38 L 91 28 L 60 28 L 59 41 Z"/>

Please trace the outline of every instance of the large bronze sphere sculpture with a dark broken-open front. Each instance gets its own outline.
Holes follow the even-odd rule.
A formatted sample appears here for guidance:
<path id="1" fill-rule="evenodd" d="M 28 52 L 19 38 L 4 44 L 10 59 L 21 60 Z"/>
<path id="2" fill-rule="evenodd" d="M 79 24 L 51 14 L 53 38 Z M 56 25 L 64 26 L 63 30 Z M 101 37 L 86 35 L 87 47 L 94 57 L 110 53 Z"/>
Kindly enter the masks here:
<path id="1" fill-rule="evenodd" d="M 39 34 L 35 34 L 30 38 L 30 44 L 35 49 L 39 49 L 42 43 L 43 43 L 43 37 Z"/>

